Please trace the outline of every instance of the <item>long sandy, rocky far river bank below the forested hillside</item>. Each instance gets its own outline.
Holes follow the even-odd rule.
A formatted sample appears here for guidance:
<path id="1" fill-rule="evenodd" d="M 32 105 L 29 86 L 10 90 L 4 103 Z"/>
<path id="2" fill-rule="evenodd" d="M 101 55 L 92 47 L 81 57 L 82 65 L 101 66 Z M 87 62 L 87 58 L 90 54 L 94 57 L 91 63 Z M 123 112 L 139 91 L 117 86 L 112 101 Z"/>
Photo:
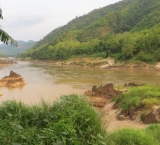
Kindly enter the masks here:
<path id="1" fill-rule="evenodd" d="M 25 61 L 23 59 L 23 61 Z M 80 66 L 80 67 L 96 67 L 101 69 L 128 69 L 128 70 L 155 70 L 160 71 L 160 62 L 146 63 L 140 61 L 116 61 L 113 58 L 89 58 L 78 57 L 63 61 L 52 60 L 27 60 L 31 62 L 40 62 L 44 64 L 59 66 Z"/>

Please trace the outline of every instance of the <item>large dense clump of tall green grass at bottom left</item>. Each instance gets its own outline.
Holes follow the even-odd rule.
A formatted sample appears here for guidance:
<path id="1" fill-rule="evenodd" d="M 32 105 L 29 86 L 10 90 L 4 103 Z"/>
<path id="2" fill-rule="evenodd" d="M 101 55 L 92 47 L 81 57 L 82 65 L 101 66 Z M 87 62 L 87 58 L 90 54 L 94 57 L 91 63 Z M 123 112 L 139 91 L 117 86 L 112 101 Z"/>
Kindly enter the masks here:
<path id="1" fill-rule="evenodd" d="M 34 106 L 7 101 L 0 106 L 0 128 L 2 145 L 104 145 L 106 141 L 99 115 L 77 95 Z"/>

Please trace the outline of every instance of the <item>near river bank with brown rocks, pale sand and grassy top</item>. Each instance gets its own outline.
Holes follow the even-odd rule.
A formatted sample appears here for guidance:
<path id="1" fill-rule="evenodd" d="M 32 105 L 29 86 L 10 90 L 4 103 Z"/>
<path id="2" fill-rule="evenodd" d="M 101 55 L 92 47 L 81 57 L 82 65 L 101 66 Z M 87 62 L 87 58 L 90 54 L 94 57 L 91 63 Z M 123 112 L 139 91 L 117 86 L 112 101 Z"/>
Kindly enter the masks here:
<path id="1" fill-rule="evenodd" d="M 160 86 L 129 83 L 93 86 L 85 95 L 101 114 L 108 132 L 122 128 L 142 129 L 160 123 Z M 97 108 L 98 107 L 98 108 Z"/>

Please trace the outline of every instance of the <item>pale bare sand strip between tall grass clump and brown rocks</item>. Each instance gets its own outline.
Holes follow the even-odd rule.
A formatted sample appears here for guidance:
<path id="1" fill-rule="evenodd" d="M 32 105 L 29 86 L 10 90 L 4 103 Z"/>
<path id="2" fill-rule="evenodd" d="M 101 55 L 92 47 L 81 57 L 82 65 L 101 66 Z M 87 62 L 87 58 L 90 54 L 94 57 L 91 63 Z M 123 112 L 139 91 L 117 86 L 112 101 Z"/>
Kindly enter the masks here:
<path id="1" fill-rule="evenodd" d="M 88 97 L 91 102 L 97 102 L 99 104 L 106 104 L 104 107 L 97 107 L 95 109 L 101 114 L 102 124 L 104 128 L 108 132 L 113 132 L 122 128 L 134 128 L 134 129 L 142 129 L 148 126 L 148 124 L 144 124 L 140 117 L 138 116 L 136 120 L 117 120 L 117 115 L 119 113 L 118 109 L 113 109 L 113 103 L 108 99 L 102 97 Z"/>

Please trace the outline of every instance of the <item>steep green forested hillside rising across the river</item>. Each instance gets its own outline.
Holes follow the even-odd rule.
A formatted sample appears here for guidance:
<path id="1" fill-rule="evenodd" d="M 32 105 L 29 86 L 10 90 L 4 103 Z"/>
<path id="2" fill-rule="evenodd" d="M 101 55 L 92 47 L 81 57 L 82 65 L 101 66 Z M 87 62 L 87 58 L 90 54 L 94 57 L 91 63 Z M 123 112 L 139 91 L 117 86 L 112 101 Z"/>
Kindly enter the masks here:
<path id="1" fill-rule="evenodd" d="M 97 54 L 118 60 L 160 61 L 159 15 L 159 0 L 122 0 L 76 17 L 21 56 L 64 60 Z"/>

